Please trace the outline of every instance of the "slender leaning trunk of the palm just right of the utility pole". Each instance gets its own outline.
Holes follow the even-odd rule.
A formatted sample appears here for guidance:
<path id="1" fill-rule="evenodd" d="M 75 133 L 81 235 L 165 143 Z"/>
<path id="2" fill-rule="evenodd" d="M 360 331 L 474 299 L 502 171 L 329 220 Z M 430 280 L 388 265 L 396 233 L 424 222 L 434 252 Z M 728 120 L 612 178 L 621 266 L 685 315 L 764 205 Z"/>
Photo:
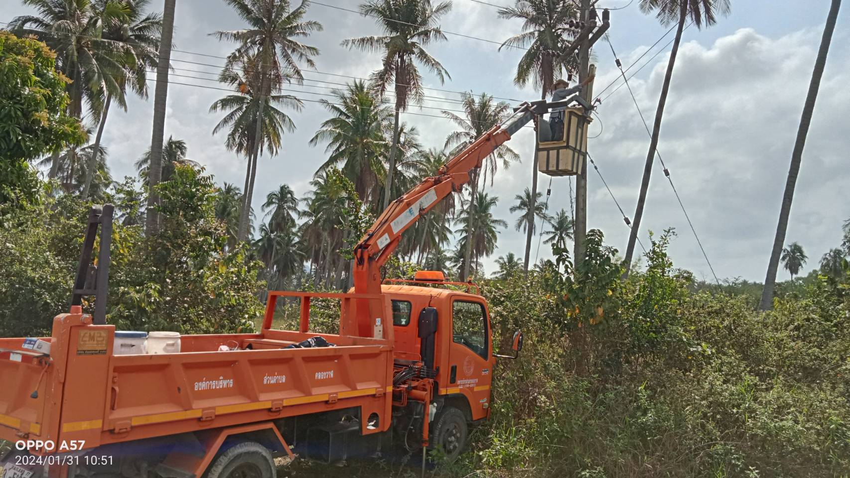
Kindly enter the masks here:
<path id="1" fill-rule="evenodd" d="M 652 176 L 652 165 L 655 162 L 655 149 L 658 147 L 658 137 L 661 132 L 661 117 L 664 115 L 664 106 L 667 103 L 667 93 L 670 91 L 670 80 L 673 76 L 673 66 L 676 65 L 676 55 L 679 52 L 679 42 L 682 41 L 682 31 L 685 20 L 688 18 L 688 3 L 683 2 L 679 12 L 679 24 L 676 29 L 676 38 L 673 40 L 673 49 L 670 52 L 670 61 L 667 63 L 667 72 L 664 76 L 664 85 L 661 87 L 661 96 L 658 98 L 658 109 L 655 110 L 655 124 L 652 127 L 652 137 L 649 139 L 649 153 L 646 155 L 646 164 L 643 165 L 643 181 L 640 184 L 638 194 L 638 208 L 632 219 L 632 233 L 629 234 L 629 244 L 626 246 L 626 271 L 623 278 L 628 277 L 629 268 L 632 267 L 632 256 L 635 252 L 635 243 L 640 233 L 640 221 L 643 217 L 643 205 L 646 203 L 646 193 L 649 189 L 649 177 Z"/>

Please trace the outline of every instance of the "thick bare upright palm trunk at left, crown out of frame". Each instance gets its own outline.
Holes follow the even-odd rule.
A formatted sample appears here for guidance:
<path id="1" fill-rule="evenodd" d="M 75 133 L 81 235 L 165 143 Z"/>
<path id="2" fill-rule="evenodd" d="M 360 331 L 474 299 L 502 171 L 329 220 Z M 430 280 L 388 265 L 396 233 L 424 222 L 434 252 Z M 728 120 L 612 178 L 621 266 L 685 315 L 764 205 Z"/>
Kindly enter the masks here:
<path id="1" fill-rule="evenodd" d="M 145 231 L 148 235 L 159 231 L 159 194 L 156 185 L 162 177 L 162 141 L 165 137 L 165 113 L 168 97 L 168 64 L 171 61 L 171 43 L 174 33 L 174 8 L 177 0 L 165 0 L 162 9 L 162 36 L 160 40 L 159 61 L 156 63 L 156 90 L 154 93 L 154 126 L 150 138 L 150 165 L 148 166 L 148 205 L 145 217 Z"/>

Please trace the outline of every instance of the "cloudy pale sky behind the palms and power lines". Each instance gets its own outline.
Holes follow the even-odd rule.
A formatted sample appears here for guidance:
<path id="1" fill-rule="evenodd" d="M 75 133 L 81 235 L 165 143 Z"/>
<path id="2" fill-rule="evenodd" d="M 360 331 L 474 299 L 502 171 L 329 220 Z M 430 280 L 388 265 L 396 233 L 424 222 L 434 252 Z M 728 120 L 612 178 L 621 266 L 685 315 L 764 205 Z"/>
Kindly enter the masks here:
<path id="1" fill-rule="evenodd" d="M 507 4 L 509 0 L 487 0 Z M 160 4 L 158 0 L 154 4 Z M 355 0 L 322 0 L 321 3 L 356 9 Z M 647 51 L 667 31 L 653 17 L 640 13 L 638 0 L 600 0 L 600 7 L 626 8 L 611 12 L 610 40 L 624 65 Z M 501 20 L 496 8 L 473 0 L 453 0 L 442 26 L 445 31 L 501 42 L 519 31 L 519 23 Z M 700 31 L 685 31 L 674 71 L 661 130 L 659 151 L 672 173 L 694 228 L 700 234 L 706 253 L 721 278 L 741 277 L 763 280 L 769 250 L 773 244 L 779 204 L 791 158 L 802 104 L 808 89 L 814 56 L 819 46 L 827 0 L 733 0 L 733 11 L 717 25 Z M 0 0 L 0 21 L 30 13 L 20 0 Z M 373 19 L 313 4 L 309 18 L 324 25 L 308 41 L 321 50 L 316 59 L 318 72 L 305 71 L 311 81 L 292 87 L 304 100 L 327 98 L 326 82 L 345 82 L 344 76 L 366 77 L 378 65 L 377 54 L 342 48 L 348 37 L 378 34 Z M 233 45 L 218 42 L 212 31 L 241 28 L 241 20 L 221 0 L 178 0 L 174 41 L 176 48 L 191 53 L 173 53 L 176 75 L 214 78 Z M 456 100 L 457 93 L 472 91 L 508 98 L 512 104 L 538 98 L 530 87 L 513 85 L 513 72 L 521 52 L 498 51 L 492 42 L 447 34 L 448 42 L 431 46 L 430 53 L 449 70 L 451 80 L 440 85 L 433 76 L 426 85 L 449 90 L 430 90 L 428 95 Z M 672 34 L 659 43 L 643 61 L 663 47 Z M 842 221 L 850 217 L 850 14 L 839 16 L 830 58 L 821 84 L 812 129 L 808 135 L 802 170 L 791 210 L 787 242 L 798 241 L 813 267 L 819 257 L 841 241 Z M 202 54 L 212 56 L 201 56 Z M 598 65 L 596 91 L 615 82 L 619 76 L 614 57 L 605 42 L 593 51 Z M 651 124 L 660 93 L 668 52 L 660 53 L 629 83 L 640 109 Z M 183 62 L 178 60 L 184 60 Z M 195 62 L 195 63 L 186 63 Z M 206 65 L 196 65 L 197 63 Z M 636 68 L 638 67 L 636 66 Z M 194 71 L 189 71 L 194 70 Z M 204 73 L 201 73 L 204 72 Z M 341 76 L 331 76 L 328 74 Z M 173 82 L 218 87 L 216 82 L 173 76 Z M 604 93 L 607 96 L 619 83 Z M 151 87 L 152 94 L 152 87 Z M 208 112 L 210 104 L 226 94 L 195 86 L 172 85 L 168 95 L 166 136 L 184 139 L 190 158 L 207 166 L 219 182 L 244 181 L 245 163 L 224 149 L 224 138 L 212 136 L 219 115 Z M 453 130 L 449 121 L 425 115 L 439 115 L 441 109 L 457 109 L 456 104 L 428 101 L 402 115 L 418 127 L 422 143 L 441 147 Z M 132 175 L 133 162 L 150 146 L 152 101 L 133 99 L 127 112 L 111 112 L 103 143 L 110 150 L 109 164 L 116 178 Z M 626 215 L 632 217 L 643 172 L 649 138 L 627 88 L 616 91 L 598 107 L 600 120 L 591 127 L 591 154 Z M 283 150 L 259 163 L 254 207 L 280 183 L 288 183 L 303 195 L 309 180 L 323 162 L 324 149 L 308 142 L 327 118 L 320 104 L 305 101 L 303 111 L 293 113 L 297 132 L 285 138 Z M 513 225 L 508 211 L 514 194 L 530 185 L 533 137 L 520 132 L 510 143 L 523 155 L 523 163 L 501 171 L 491 194 L 500 198 L 498 215 Z M 589 172 L 588 228 L 601 228 L 606 241 L 625 250 L 628 229 L 602 181 Z M 570 211 L 570 179 L 554 178 L 549 211 Z M 541 176 L 545 191 L 549 177 Z M 575 184 L 575 183 L 574 183 Z M 673 195 L 670 184 L 656 163 L 649 188 L 641 237 L 647 244 L 649 230 L 676 228 L 671 254 L 677 267 L 693 270 L 709 278 L 706 260 L 691 233 Z M 524 234 L 513 228 L 501 231 L 499 250 L 485 261 L 492 270 L 496 256 L 509 251 L 522 256 Z M 536 244 L 532 256 L 536 256 Z M 542 246 L 540 257 L 549 256 Z M 787 278 L 787 273 L 780 273 Z"/>

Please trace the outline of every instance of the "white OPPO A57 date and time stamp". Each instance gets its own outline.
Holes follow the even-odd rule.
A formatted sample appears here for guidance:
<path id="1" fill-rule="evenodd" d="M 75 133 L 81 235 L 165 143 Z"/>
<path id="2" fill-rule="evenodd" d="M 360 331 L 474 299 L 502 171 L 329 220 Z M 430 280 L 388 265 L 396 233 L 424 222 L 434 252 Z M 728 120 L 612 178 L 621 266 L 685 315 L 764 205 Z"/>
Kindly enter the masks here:
<path id="1" fill-rule="evenodd" d="M 14 445 L 6 442 L 5 449 L 0 447 L 0 478 L 30 478 L 34 468 L 42 466 L 103 466 L 114 463 L 111 455 L 78 453 L 85 447 L 84 440 L 61 441 L 20 440 Z M 41 451 L 50 454 L 9 453 Z M 3 459 L 3 455 L 8 455 Z"/>

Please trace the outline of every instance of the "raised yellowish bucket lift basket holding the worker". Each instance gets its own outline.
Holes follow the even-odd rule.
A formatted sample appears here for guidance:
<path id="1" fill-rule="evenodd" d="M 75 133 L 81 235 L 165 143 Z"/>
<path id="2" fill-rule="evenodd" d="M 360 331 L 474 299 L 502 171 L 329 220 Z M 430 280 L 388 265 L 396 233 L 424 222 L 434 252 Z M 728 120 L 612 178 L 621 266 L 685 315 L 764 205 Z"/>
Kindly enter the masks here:
<path id="1" fill-rule="evenodd" d="M 587 125 L 592 121 L 582 108 L 564 110 L 564 137 L 551 138 L 549 122 L 537 126 L 537 167 L 549 176 L 581 174 L 587 162 Z"/>

